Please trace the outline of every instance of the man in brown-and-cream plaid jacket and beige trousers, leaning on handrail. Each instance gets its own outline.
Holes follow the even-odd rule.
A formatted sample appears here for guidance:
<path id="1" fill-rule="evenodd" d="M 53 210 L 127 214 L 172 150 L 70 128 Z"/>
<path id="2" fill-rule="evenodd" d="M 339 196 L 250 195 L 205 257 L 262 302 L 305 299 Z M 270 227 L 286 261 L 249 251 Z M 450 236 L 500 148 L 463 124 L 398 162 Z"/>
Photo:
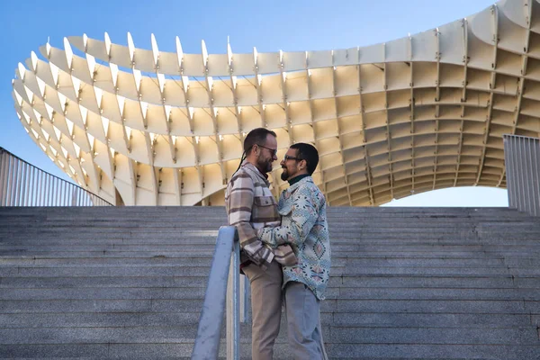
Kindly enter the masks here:
<path id="1" fill-rule="evenodd" d="M 238 229 L 240 268 L 251 284 L 252 359 L 266 360 L 273 358 L 279 334 L 282 265 L 296 264 L 296 257 L 289 245 L 271 248 L 257 238 L 257 229 L 281 223 L 267 175 L 277 160 L 275 132 L 265 128 L 251 130 L 244 139 L 244 154 L 246 160 L 227 186 L 225 204 L 229 225 Z"/>

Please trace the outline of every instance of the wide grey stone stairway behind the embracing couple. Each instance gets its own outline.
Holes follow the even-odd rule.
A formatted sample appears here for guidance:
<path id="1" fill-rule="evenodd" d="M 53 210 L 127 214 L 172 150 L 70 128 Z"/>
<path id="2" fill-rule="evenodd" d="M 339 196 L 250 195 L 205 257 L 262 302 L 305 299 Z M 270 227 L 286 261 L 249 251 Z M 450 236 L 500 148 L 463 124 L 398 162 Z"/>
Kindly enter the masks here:
<path id="1" fill-rule="evenodd" d="M 328 216 L 331 358 L 540 359 L 538 220 L 503 208 Z M 189 358 L 225 221 L 220 207 L 0 208 L 0 358 Z M 241 336 L 249 358 L 249 325 Z M 275 357 L 288 354 L 283 327 Z"/>

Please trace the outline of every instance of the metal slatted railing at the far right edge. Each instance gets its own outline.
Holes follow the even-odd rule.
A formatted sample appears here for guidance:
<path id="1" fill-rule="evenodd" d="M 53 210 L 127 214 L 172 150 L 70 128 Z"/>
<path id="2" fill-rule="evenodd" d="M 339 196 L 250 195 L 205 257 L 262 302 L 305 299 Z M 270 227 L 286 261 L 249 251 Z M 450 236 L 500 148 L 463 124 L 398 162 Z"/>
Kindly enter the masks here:
<path id="1" fill-rule="evenodd" d="M 503 135 L 509 207 L 540 216 L 540 139 Z"/>

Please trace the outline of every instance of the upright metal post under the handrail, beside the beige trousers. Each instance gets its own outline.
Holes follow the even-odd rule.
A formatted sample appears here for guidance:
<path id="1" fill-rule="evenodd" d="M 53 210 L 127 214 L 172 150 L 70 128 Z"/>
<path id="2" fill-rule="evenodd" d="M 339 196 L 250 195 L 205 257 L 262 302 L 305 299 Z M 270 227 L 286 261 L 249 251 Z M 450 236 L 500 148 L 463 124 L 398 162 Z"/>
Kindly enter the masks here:
<path id="1" fill-rule="evenodd" d="M 235 241 L 231 252 L 227 284 L 227 360 L 239 360 L 240 342 L 240 245 Z"/>

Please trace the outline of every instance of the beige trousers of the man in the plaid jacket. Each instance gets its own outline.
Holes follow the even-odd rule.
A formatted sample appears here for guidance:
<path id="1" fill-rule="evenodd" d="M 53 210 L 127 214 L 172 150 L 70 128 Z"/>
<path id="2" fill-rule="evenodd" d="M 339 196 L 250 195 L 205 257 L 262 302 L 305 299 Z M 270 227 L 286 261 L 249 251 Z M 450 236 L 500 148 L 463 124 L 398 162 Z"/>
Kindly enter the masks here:
<path id="1" fill-rule="evenodd" d="M 243 268 L 251 285 L 251 358 L 271 360 L 282 311 L 282 268 L 275 261 L 266 271 L 251 264 Z"/>

